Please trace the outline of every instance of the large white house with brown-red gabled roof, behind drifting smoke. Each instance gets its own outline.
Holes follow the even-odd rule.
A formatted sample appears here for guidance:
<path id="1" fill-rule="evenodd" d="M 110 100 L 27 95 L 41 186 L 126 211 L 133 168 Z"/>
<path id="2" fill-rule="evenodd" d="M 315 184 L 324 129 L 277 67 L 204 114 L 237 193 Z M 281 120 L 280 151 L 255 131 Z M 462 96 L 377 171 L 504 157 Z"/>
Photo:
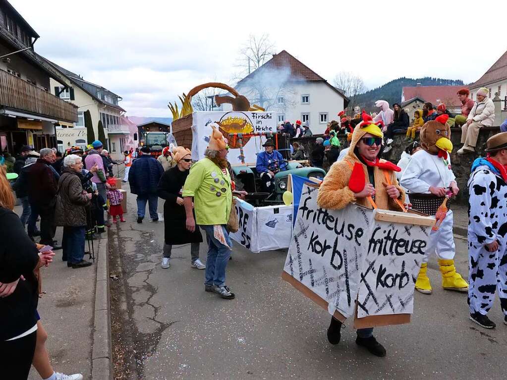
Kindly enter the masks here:
<path id="1" fill-rule="evenodd" d="M 279 122 L 308 122 L 314 134 L 323 133 L 328 122 L 338 120 L 338 112 L 348 104 L 340 89 L 285 50 L 274 54 L 235 88 L 250 104 L 276 111 Z"/>

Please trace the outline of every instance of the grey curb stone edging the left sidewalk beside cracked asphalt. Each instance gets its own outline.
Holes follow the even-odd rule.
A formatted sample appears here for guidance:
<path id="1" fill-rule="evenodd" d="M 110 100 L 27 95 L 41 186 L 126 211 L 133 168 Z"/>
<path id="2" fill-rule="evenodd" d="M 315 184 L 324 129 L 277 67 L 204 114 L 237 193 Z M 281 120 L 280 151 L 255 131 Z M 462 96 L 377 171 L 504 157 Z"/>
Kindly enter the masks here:
<path id="1" fill-rule="evenodd" d="M 111 303 L 109 288 L 108 240 L 98 244 L 95 284 L 95 307 L 93 311 L 92 379 L 113 380 L 113 355 L 111 344 Z"/>

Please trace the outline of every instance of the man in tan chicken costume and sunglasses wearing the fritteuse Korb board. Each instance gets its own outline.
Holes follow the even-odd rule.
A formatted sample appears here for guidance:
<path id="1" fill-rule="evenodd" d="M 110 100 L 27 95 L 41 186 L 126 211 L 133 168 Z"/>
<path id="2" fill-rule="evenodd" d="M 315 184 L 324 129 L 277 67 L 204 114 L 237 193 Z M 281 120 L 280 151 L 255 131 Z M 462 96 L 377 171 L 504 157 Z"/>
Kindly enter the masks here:
<path id="1" fill-rule="evenodd" d="M 380 160 L 383 134 L 373 124 L 369 115 L 363 115 L 361 122 L 352 133 L 347 156 L 331 166 L 322 181 L 317 197 L 319 207 L 340 210 L 350 203 L 368 208 L 404 210 L 401 200 L 404 191 L 398 185 L 396 165 Z M 331 317 L 328 340 L 331 344 L 340 341 L 342 323 Z M 384 347 L 373 336 L 373 328 L 357 330 L 356 344 L 365 347 L 372 354 L 385 356 Z"/>

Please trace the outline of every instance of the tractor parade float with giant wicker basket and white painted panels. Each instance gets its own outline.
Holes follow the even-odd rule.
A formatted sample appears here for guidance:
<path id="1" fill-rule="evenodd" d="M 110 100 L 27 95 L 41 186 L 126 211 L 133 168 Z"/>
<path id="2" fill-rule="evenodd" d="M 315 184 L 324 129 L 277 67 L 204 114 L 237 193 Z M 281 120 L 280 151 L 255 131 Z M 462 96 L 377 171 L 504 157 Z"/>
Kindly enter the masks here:
<path id="1" fill-rule="evenodd" d="M 232 105 L 230 111 L 194 111 L 192 96 L 205 88 L 220 88 L 231 96 L 214 98 L 215 104 Z M 218 125 L 229 144 L 228 161 L 235 185 L 248 193 L 245 200 L 237 199 L 236 211 L 239 231 L 231 237 L 251 252 L 288 248 L 293 226 L 292 178 L 322 178 L 325 171 L 311 167 L 308 161 L 290 160 L 290 137 L 277 133 L 277 113 L 250 105 L 246 97 L 222 83 L 206 83 L 179 98 L 182 105 L 169 103 L 173 122 L 172 133 L 179 145 L 192 150 L 192 159 L 204 158 L 211 135 L 211 125 Z M 271 138 L 275 149 L 282 153 L 287 170 L 276 173 L 275 191 L 260 192 L 260 178 L 256 171 L 257 154 L 264 151 L 263 143 Z M 279 162 L 273 164 L 280 164 Z"/>

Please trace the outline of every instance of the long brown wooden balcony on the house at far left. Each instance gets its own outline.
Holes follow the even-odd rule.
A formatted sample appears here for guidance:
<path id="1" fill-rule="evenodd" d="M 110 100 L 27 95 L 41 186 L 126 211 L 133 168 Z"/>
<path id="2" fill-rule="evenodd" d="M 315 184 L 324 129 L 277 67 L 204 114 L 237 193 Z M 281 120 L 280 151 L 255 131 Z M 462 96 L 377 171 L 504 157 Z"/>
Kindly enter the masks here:
<path id="1" fill-rule="evenodd" d="M 0 106 L 67 122 L 78 121 L 78 107 L 0 70 Z"/>

